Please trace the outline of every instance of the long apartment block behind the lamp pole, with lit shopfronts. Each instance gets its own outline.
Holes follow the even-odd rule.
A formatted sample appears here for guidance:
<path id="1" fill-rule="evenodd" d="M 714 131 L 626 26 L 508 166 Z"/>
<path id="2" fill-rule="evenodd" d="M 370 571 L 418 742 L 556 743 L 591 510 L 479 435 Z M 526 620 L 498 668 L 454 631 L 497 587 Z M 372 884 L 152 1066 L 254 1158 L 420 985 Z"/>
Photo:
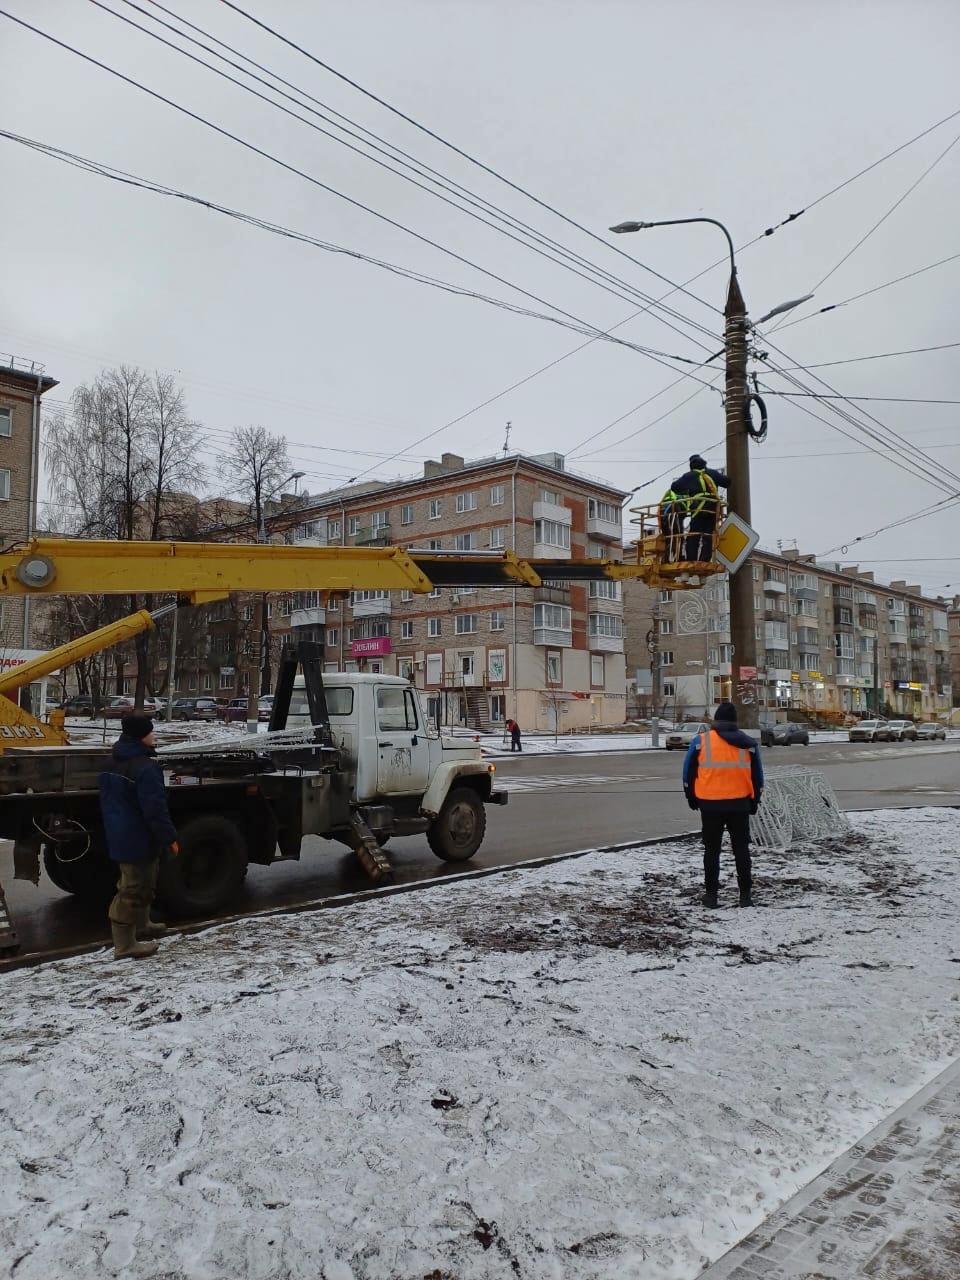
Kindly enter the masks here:
<path id="1" fill-rule="evenodd" d="M 776 718 L 788 719 L 795 710 L 865 713 L 878 705 L 913 719 L 950 710 L 946 600 L 799 552 L 756 552 L 740 572 L 753 575 L 760 700 Z M 631 710 L 650 707 L 650 628 L 659 641 L 664 714 L 677 708 L 700 716 L 730 695 L 726 576 L 699 591 L 627 584 L 625 628 Z"/>

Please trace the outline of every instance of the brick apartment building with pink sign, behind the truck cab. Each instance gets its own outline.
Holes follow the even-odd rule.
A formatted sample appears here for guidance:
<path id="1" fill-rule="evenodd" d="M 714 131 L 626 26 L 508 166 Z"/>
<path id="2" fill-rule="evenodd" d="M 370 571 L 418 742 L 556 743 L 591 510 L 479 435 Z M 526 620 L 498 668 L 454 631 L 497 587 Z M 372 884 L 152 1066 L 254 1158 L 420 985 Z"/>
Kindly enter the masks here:
<path id="1" fill-rule="evenodd" d="M 294 541 L 512 549 L 518 556 L 621 559 L 626 495 L 564 468 L 558 454 L 466 462 L 444 453 L 408 481 L 310 499 Z M 289 517 L 288 517 L 289 518 Z M 440 723 L 561 730 L 625 718 L 618 584 L 300 593 L 274 603 L 274 630 L 323 640 L 328 671 L 403 675 Z"/>

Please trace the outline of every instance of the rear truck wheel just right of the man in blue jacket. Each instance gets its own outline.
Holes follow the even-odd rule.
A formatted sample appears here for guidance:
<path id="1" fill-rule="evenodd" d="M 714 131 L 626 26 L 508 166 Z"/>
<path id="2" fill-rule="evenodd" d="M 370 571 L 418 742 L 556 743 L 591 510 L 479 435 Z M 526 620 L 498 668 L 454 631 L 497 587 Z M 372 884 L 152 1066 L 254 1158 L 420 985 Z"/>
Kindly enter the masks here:
<path id="1" fill-rule="evenodd" d="M 160 863 L 157 897 L 172 915 L 210 915 L 247 874 L 247 842 L 229 818 L 201 814 L 179 828 L 180 851 Z"/>

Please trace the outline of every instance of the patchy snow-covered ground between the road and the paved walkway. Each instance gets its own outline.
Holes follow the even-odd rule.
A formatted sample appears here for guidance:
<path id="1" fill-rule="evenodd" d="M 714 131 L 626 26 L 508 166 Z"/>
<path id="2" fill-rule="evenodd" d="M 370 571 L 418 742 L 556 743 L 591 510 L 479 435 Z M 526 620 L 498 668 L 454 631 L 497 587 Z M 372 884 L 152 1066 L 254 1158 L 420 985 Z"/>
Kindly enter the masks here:
<path id="1" fill-rule="evenodd" d="M 876 813 L 753 911 L 664 844 L 9 974 L 0 1257 L 692 1277 L 957 1055 L 959 854 Z"/>

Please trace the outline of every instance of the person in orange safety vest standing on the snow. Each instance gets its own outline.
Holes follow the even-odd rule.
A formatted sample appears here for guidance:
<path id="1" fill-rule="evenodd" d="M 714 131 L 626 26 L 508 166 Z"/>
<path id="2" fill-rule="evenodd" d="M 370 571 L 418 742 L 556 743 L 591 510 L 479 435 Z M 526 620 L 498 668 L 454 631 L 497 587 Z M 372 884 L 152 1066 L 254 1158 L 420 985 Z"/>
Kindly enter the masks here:
<path id="1" fill-rule="evenodd" d="M 753 906 L 750 814 L 760 804 L 763 765 L 759 742 L 737 728 L 737 709 L 732 703 L 721 703 L 713 727 L 698 733 L 690 744 L 684 759 L 684 794 L 690 808 L 700 810 L 703 905 L 719 905 L 719 851 L 726 827 L 737 867 L 740 905 Z"/>

